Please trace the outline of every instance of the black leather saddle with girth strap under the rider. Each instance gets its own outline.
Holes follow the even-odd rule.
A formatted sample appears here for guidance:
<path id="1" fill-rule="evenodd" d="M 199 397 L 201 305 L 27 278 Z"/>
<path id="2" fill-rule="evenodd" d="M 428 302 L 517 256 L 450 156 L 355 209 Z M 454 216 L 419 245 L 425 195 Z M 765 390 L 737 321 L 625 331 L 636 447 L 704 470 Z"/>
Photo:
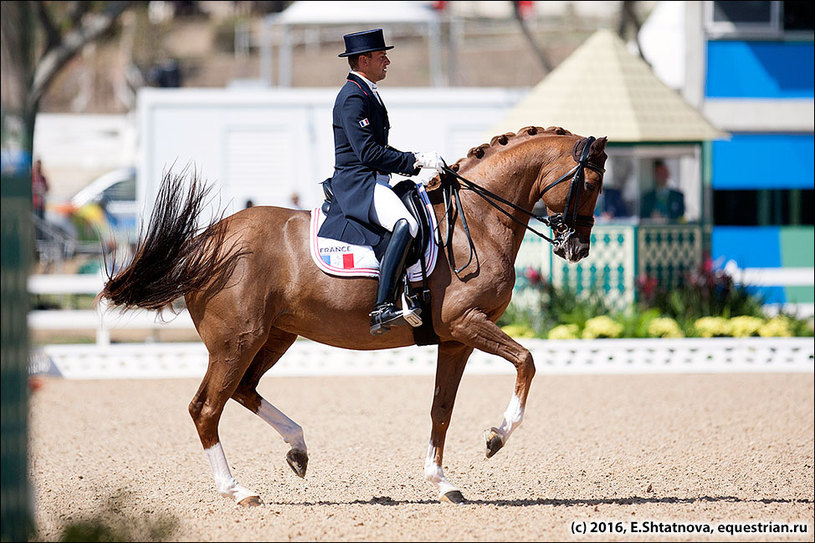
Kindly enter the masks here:
<path id="1" fill-rule="evenodd" d="M 321 184 L 323 187 L 323 193 L 325 195 L 325 201 L 321 206 L 321 211 L 324 215 L 328 215 L 328 211 L 331 208 L 331 202 L 334 199 L 334 191 L 331 188 L 331 178 L 326 179 Z M 437 345 L 439 343 L 439 337 L 433 330 L 432 312 L 430 308 L 430 289 L 427 286 L 427 276 L 429 271 L 428 263 L 426 261 L 426 255 L 430 252 L 428 251 L 430 244 L 434 243 L 433 222 L 428 215 L 427 207 L 425 206 L 425 202 L 422 200 L 422 196 L 419 194 L 419 188 L 415 182 L 405 179 L 391 188 L 399 199 L 402 200 L 402 203 L 405 204 L 408 212 L 419 224 L 419 232 L 416 234 L 416 239 L 408 252 L 408 256 L 405 261 L 405 268 L 420 268 L 422 285 L 419 287 L 411 286 L 408 275 L 405 274 L 403 286 L 403 297 L 407 300 L 407 303 L 410 303 L 412 306 L 421 307 L 421 314 L 423 316 L 426 315 L 426 318 L 422 319 L 422 325 L 413 328 L 414 340 L 416 341 L 417 345 Z M 383 248 L 387 247 L 389 242 L 390 232 L 385 234 L 385 240 L 382 244 L 380 244 L 380 246 Z M 381 258 L 382 255 L 377 254 L 376 256 L 377 258 Z"/>

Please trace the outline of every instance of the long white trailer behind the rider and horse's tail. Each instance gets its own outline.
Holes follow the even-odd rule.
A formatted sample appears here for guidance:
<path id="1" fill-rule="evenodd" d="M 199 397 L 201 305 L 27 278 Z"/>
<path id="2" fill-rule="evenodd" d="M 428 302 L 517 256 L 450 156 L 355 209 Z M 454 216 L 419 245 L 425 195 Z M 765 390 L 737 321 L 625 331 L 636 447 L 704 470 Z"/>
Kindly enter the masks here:
<path id="1" fill-rule="evenodd" d="M 334 168 L 331 110 L 338 89 L 143 89 L 138 98 L 138 188 L 149 219 L 164 172 L 194 168 L 226 214 L 255 205 L 311 208 Z M 523 89 L 384 88 L 390 144 L 438 151 L 453 163 L 489 141 Z M 540 124 L 530 120 L 529 124 Z M 520 126 L 517 128 L 521 128 Z M 213 209 L 213 208 L 211 208 Z M 211 216 L 212 211 L 208 216 Z M 206 214 L 205 214 L 206 215 Z"/>

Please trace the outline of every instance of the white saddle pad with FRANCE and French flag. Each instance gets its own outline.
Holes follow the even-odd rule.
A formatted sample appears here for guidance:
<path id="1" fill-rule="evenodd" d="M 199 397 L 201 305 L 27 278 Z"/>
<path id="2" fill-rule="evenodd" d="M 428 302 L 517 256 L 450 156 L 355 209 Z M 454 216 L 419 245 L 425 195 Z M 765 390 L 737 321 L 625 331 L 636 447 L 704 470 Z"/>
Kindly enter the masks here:
<path id="1" fill-rule="evenodd" d="M 430 217 L 430 227 L 435 231 L 436 216 L 433 214 L 433 206 L 427 197 L 424 186 L 417 183 L 419 196 L 422 197 L 427 214 Z M 338 277 L 379 277 L 379 260 L 377 260 L 374 250 L 370 245 L 352 245 L 344 241 L 331 238 L 323 238 L 317 235 L 325 220 L 325 215 L 319 207 L 311 210 L 311 232 L 309 247 L 311 249 L 311 259 L 318 268 L 329 275 Z M 425 249 L 425 263 L 427 265 L 427 275 L 433 272 L 436 266 L 438 246 L 434 237 L 431 237 L 427 249 Z M 408 280 L 422 280 L 422 265 L 417 262 L 408 267 Z"/>

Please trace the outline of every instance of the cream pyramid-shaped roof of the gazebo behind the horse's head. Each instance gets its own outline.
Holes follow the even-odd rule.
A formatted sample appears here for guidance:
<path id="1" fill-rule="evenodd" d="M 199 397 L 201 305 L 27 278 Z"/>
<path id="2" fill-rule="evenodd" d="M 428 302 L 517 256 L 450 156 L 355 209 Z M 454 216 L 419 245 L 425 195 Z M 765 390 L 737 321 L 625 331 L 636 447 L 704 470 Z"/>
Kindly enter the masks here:
<path id="1" fill-rule="evenodd" d="M 610 142 L 721 139 L 714 127 L 654 75 L 610 30 L 598 30 L 498 123 L 492 136 L 529 126 L 562 126 Z"/>

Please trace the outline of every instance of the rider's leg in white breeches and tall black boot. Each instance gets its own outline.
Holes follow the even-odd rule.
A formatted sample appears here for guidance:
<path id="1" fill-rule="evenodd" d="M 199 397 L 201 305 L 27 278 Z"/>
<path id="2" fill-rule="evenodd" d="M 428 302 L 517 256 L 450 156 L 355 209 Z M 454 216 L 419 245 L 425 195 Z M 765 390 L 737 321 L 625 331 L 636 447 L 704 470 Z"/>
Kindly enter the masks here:
<path id="1" fill-rule="evenodd" d="M 377 222 L 391 232 L 391 239 L 379 265 L 379 287 L 376 305 L 371 312 L 371 333 L 384 334 L 390 327 L 407 324 L 406 313 L 421 322 L 418 311 L 396 307 L 396 291 L 419 225 L 408 212 L 398 196 L 384 182 L 378 182 L 374 190 L 374 211 Z"/>

